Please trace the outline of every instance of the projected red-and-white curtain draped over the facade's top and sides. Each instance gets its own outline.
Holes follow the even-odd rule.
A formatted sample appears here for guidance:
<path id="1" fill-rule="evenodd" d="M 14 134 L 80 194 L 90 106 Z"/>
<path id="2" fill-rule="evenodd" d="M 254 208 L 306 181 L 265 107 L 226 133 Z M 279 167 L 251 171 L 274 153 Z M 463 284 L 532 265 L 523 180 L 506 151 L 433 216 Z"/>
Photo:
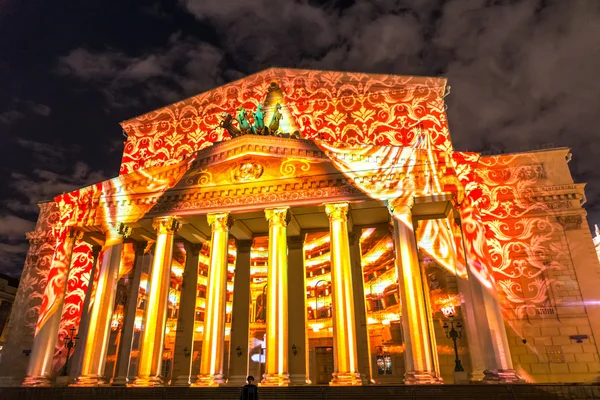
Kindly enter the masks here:
<path id="1" fill-rule="evenodd" d="M 541 203 L 527 200 L 536 178 L 528 175 L 530 167 L 524 164 L 533 163 L 534 156 L 524 162 L 453 151 L 444 113 L 444 79 L 271 69 L 123 123 L 128 140 L 121 176 L 57 197 L 58 221 L 42 229 L 48 237 L 57 235 L 52 239 L 54 257 L 62 263 L 49 271 L 49 262 L 46 267 L 38 264 L 38 279 L 47 274 L 38 327 L 60 312 L 56 299 L 67 280 L 64 227 L 106 229 L 125 217 L 133 222 L 133 214 L 142 218 L 153 204 L 144 199 L 159 198 L 175 187 L 191 165 L 189 156 L 230 138 L 220 127 L 223 114 L 235 116 L 240 106 L 252 111 L 265 103 L 273 82 L 289 125 L 315 140 L 364 193 L 389 201 L 392 208 L 413 196 L 452 197 L 460 211 L 468 261 L 459 255 L 460 273 L 461 264 L 469 265 L 483 284 L 500 290 L 505 308 L 521 317 L 548 303 L 548 288 L 555 282 L 544 271 L 560 267 L 550 260 L 558 259 L 562 250 L 550 240 L 559 227 L 550 222 Z M 103 206 L 116 195 L 117 202 Z M 546 216 L 535 216 L 536 211 Z M 452 247 L 461 253 L 461 232 L 448 224 L 431 222 L 423 228 L 424 235 L 430 243 L 454 238 Z M 431 256 L 448 264 L 450 244 L 434 247 L 445 250 Z M 81 315 L 91 267 L 89 246 L 78 244 L 73 260 L 61 338 Z"/>

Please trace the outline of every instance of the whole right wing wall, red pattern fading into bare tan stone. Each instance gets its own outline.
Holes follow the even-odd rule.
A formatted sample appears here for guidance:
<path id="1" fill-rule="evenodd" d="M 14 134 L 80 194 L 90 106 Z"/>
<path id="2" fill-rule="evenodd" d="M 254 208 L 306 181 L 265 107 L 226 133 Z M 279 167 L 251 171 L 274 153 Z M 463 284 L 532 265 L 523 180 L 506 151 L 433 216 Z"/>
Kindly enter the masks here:
<path id="1" fill-rule="evenodd" d="M 600 264 L 569 158 L 555 149 L 482 160 L 482 215 L 511 355 L 534 382 L 595 381 L 600 369 Z"/>

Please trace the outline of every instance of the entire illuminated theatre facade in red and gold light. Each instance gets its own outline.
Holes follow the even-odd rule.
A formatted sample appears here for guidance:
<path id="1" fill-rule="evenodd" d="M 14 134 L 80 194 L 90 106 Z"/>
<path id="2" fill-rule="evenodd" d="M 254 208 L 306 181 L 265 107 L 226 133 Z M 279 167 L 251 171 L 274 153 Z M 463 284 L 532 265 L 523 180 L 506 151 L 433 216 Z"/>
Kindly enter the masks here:
<path id="1" fill-rule="evenodd" d="M 4 384 L 55 384 L 71 327 L 81 386 L 596 380 L 569 150 L 455 151 L 445 94 L 270 69 L 123 122 L 120 176 L 40 204 Z"/>

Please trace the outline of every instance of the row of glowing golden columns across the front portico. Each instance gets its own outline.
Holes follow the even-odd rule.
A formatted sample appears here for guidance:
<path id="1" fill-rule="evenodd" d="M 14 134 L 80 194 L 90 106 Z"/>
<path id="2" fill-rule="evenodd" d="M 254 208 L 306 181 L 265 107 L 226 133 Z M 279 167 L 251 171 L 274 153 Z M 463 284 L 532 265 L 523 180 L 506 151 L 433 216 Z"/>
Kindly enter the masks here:
<path id="1" fill-rule="evenodd" d="M 423 281 L 420 271 L 417 245 L 412 224 L 410 208 L 390 208 L 394 223 L 394 241 L 396 248 L 396 265 L 398 268 L 400 293 L 402 299 L 403 333 L 405 338 L 405 382 L 409 384 L 439 383 L 439 367 L 437 365 L 436 344 L 433 335 L 432 321 L 428 318 L 427 297 L 423 294 Z M 360 385 L 361 377 L 358 371 L 357 342 L 368 340 L 366 327 L 357 329 L 355 303 L 356 296 L 353 287 L 353 268 L 350 256 L 350 243 L 348 235 L 347 203 L 331 203 L 325 205 L 325 212 L 329 217 L 331 234 L 331 283 L 332 283 L 332 317 L 333 317 L 333 344 L 334 344 L 334 373 L 332 385 Z M 265 210 L 265 217 L 269 222 L 269 248 L 268 248 L 268 276 L 267 276 L 267 354 L 266 368 L 262 383 L 270 386 L 285 386 L 290 384 L 288 369 L 289 336 L 294 335 L 288 329 L 288 238 L 287 224 L 290 212 L 287 207 Z M 227 258 L 229 228 L 231 218 L 228 213 L 208 215 L 211 226 L 211 251 L 209 277 L 207 287 L 207 313 L 204 327 L 204 340 L 200 362 L 200 374 L 194 386 L 218 386 L 225 380 L 225 317 L 227 296 Z M 170 267 L 173 254 L 174 234 L 179 229 L 179 222 L 174 217 L 157 218 L 153 223 L 156 229 L 156 244 L 152 268 L 149 276 L 149 287 L 146 298 L 145 316 L 143 320 L 142 336 L 140 340 L 140 356 L 138 360 L 138 373 L 132 382 L 133 386 L 162 385 L 161 364 L 165 339 L 165 324 L 167 317 L 167 302 L 170 286 Z M 78 370 L 77 384 L 93 386 L 101 383 L 104 376 L 104 365 L 108 340 L 110 336 L 110 322 L 114 308 L 117 288 L 118 271 L 123 247 L 123 239 L 130 233 L 129 228 L 119 225 L 116 229 L 109 230 L 102 263 L 98 274 L 98 281 L 94 296 L 89 300 L 93 304 L 89 309 L 89 316 L 85 317 L 85 324 L 90 327 L 82 341 L 80 367 Z M 63 268 L 70 265 L 70 255 L 76 236 L 71 235 L 65 240 L 64 259 L 56 259 L 54 263 L 62 263 Z M 301 243 L 297 246 L 300 250 L 295 258 L 301 259 Z M 298 250 L 296 249 L 296 250 Z M 187 261 L 180 303 L 180 321 L 176 337 L 176 354 L 191 352 L 193 349 L 193 324 L 196 302 L 196 283 L 198 273 L 199 247 L 188 245 L 186 247 Z M 245 267 L 236 268 L 234 291 L 237 301 L 234 301 L 234 320 L 231 331 L 231 347 L 234 343 L 248 343 L 248 296 L 249 285 L 250 243 L 243 243 L 238 255 L 239 263 Z M 136 254 L 143 254 L 142 246 L 138 246 Z M 295 259 L 294 258 L 294 259 Z M 64 264 L 64 265 L 63 265 Z M 135 265 L 134 288 L 139 286 L 141 265 Z M 360 265 L 358 265 L 360 268 Z M 298 268 L 296 268 L 298 269 Z M 356 269 L 356 267 L 355 267 Z M 304 269 L 301 268 L 302 274 Z M 247 276 L 246 276 L 247 275 Z M 68 273 L 64 275 L 68 276 Z M 356 281 L 357 276 L 354 277 Z M 136 283 L 137 279 L 137 283 Z M 470 337 L 479 338 L 479 343 L 493 346 L 493 355 L 474 362 L 476 368 L 487 371 L 497 371 L 497 376 L 510 374 L 510 353 L 506 344 L 506 333 L 503 329 L 502 316 L 497 309 L 493 309 L 493 302 L 488 298 L 489 293 L 480 288 L 477 279 L 470 279 L 471 303 L 480 302 L 483 307 L 485 321 L 479 321 L 472 326 L 477 329 L 469 332 Z M 244 289 L 245 285 L 245 289 Z M 304 287 L 301 295 L 304 296 Z M 66 291 L 66 284 L 65 284 Z M 90 291 L 91 292 L 91 291 Z M 300 292 L 299 292 L 300 293 Z M 62 309 L 65 292 L 62 297 L 55 299 L 57 310 Z M 300 294 L 298 294 L 300 295 Z M 487 296 L 487 297 L 486 297 Z M 241 301 L 240 301 L 241 299 Z M 87 302 L 87 300 L 86 300 Z M 497 301 L 496 301 L 497 303 Z M 85 305 L 84 307 L 88 307 Z M 135 299 L 130 298 L 126 305 L 127 315 L 135 315 Z M 300 311 L 300 310 L 298 310 Z M 305 310 L 302 310 L 304 315 Z M 51 382 L 51 364 L 54 356 L 54 346 L 60 312 L 55 312 L 46 321 L 34 339 L 32 359 L 30 362 L 26 385 L 44 385 Z M 466 313 L 469 316 L 469 313 Z M 471 313 L 471 316 L 474 316 Z M 129 366 L 133 335 L 133 319 L 128 318 L 123 327 L 124 336 L 121 348 L 118 351 L 117 378 L 113 384 L 125 384 Z M 186 324 L 191 324 L 187 326 Z M 129 326 L 131 325 L 131 326 Z M 305 325 L 305 324 L 303 324 Z M 468 327 L 468 326 L 467 326 Z M 304 331 L 306 330 L 303 326 Z M 304 336 L 302 336 L 304 337 Z M 490 344 L 491 343 L 491 344 Z M 304 343 L 302 343 L 304 344 Z M 480 351 L 472 349 L 471 354 L 477 357 L 486 349 Z M 246 350 L 246 349 L 243 349 Z M 305 356 L 306 356 L 306 350 Z M 241 351 L 243 353 L 243 351 Z M 233 353 L 233 351 L 232 351 Z M 240 351 L 237 351 L 240 357 Z M 247 352 L 246 352 L 247 353 Z M 233 354 L 232 354 L 233 357 Z M 246 359 L 247 354 L 244 356 Z M 173 383 L 176 385 L 190 384 L 191 357 L 182 360 L 176 357 L 173 373 Z M 481 357 L 480 357 L 481 358 Z M 75 361 L 75 360 L 74 360 Z M 232 381 L 241 380 L 245 376 L 245 368 L 239 362 L 232 362 Z M 493 375 L 493 373 L 492 373 Z"/>

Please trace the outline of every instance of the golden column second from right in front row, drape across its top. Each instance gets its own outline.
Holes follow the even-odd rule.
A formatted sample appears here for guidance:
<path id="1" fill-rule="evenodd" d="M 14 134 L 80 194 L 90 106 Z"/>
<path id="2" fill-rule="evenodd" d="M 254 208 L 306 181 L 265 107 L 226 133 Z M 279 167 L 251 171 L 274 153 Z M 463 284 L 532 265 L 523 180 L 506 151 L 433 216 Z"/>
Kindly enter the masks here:
<path id="1" fill-rule="evenodd" d="M 394 220 L 396 268 L 402 299 L 405 384 L 441 383 L 435 369 L 437 350 L 431 343 L 427 302 L 419 265 L 412 214 L 407 206 L 390 207 Z"/>

